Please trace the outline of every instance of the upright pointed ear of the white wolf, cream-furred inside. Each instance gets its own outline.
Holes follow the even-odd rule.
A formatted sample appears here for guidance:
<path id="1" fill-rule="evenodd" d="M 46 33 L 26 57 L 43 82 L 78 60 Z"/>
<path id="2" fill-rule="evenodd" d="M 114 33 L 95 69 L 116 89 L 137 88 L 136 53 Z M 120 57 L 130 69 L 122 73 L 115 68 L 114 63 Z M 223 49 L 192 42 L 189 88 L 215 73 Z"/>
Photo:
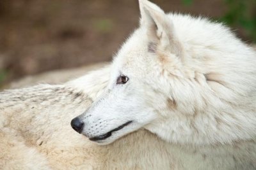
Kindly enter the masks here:
<path id="1" fill-rule="evenodd" d="M 181 46 L 175 36 L 173 23 L 168 15 L 159 6 L 147 0 L 139 0 L 140 4 L 140 24 L 147 27 L 148 36 L 152 41 L 158 41 L 163 50 L 170 50 L 177 55 L 181 55 Z"/>

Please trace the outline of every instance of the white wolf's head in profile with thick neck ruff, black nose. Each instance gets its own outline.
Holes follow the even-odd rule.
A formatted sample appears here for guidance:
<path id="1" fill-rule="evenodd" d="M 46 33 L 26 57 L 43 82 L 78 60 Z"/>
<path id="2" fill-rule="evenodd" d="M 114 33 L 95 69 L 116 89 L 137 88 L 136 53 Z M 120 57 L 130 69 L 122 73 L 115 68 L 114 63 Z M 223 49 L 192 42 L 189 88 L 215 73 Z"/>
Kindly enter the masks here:
<path id="1" fill-rule="evenodd" d="M 100 144 L 140 128 L 174 143 L 251 138 L 255 53 L 221 24 L 139 2 L 140 27 L 115 56 L 108 90 L 72 127 Z"/>

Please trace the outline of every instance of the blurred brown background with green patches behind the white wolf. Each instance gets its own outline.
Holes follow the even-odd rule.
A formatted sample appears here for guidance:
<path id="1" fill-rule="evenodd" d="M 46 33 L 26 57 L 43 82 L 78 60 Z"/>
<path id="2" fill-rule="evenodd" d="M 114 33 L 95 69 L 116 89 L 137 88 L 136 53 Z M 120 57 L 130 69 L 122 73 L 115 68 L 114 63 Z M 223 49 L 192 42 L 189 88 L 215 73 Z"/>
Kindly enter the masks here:
<path id="1" fill-rule="evenodd" d="M 152 0 L 256 42 L 256 0 Z M 22 76 L 109 61 L 138 26 L 137 0 L 0 0 L 0 87 Z"/>

